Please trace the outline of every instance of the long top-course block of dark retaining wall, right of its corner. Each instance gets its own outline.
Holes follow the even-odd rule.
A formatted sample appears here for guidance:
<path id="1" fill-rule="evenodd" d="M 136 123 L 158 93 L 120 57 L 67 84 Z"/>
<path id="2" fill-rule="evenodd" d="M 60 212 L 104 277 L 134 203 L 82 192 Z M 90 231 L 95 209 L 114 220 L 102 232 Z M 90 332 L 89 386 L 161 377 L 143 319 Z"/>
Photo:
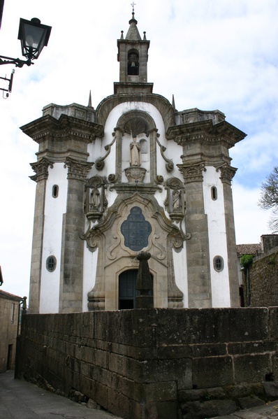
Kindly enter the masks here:
<path id="1" fill-rule="evenodd" d="M 166 309 L 159 310 L 159 344 L 261 341 L 268 337 L 267 308 L 190 308 L 173 311 L 171 320 Z"/>

